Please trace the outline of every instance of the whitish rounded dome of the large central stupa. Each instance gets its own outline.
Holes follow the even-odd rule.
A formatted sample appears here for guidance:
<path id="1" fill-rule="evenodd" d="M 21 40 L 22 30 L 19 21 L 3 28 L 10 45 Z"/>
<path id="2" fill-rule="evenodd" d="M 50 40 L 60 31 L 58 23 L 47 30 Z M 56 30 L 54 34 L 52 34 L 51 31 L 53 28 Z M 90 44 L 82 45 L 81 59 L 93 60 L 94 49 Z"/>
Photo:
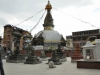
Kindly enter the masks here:
<path id="1" fill-rule="evenodd" d="M 55 30 L 43 30 L 38 32 L 35 37 L 38 38 L 42 34 L 44 42 L 60 42 L 62 35 Z"/>

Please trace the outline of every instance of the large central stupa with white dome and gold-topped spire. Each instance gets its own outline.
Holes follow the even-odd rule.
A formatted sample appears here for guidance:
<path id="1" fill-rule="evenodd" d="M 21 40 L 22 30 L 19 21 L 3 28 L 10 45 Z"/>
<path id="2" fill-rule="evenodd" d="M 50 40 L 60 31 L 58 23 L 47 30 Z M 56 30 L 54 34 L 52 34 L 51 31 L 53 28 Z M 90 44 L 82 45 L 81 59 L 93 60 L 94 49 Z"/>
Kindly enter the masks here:
<path id="1" fill-rule="evenodd" d="M 61 46 L 66 46 L 66 41 L 63 38 L 62 34 L 59 34 L 54 30 L 53 18 L 51 15 L 52 5 L 50 1 L 48 1 L 45 10 L 47 10 L 47 14 L 44 20 L 44 30 L 39 31 L 32 40 L 33 46 L 43 46 L 43 50 L 48 53 L 52 49 L 57 49 L 58 42 Z M 51 51 L 52 52 L 52 51 Z M 40 51 L 41 53 L 41 51 Z"/>

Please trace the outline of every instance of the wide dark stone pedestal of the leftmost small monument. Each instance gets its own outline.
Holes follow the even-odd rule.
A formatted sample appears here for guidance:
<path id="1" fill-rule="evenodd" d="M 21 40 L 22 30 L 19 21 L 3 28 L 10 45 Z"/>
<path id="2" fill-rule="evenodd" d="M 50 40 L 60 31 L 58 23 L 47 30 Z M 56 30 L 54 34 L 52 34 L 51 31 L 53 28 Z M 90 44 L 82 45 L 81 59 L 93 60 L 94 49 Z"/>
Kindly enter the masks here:
<path id="1" fill-rule="evenodd" d="M 25 58 L 21 54 L 9 55 L 7 56 L 6 62 L 11 63 L 22 63 L 25 61 Z"/>

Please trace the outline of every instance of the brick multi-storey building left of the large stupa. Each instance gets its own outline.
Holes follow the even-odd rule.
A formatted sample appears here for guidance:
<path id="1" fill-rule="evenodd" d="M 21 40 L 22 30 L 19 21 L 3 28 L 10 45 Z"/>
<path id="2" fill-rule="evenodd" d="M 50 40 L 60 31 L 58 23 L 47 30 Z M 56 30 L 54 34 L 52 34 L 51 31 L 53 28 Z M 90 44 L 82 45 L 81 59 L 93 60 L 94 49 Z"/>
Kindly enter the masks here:
<path id="1" fill-rule="evenodd" d="M 26 35 L 31 36 L 31 34 L 26 30 L 12 26 L 10 24 L 5 25 L 3 34 L 4 48 L 6 50 L 16 50 L 16 47 L 19 46 L 20 50 L 24 49 L 27 45 L 26 41 L 28 40 L 25 38 Z"/>

